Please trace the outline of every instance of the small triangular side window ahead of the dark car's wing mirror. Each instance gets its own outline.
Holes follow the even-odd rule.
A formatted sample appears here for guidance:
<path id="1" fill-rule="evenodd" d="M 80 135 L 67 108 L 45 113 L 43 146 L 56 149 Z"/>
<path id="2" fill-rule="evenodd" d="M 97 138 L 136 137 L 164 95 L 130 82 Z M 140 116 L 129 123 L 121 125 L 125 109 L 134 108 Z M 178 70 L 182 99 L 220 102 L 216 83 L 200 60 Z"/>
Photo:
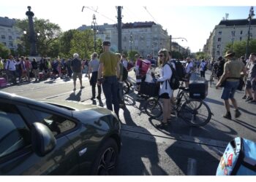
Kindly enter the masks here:
<path id="1" fill-rule="evenodd" d="M 53 132 L 53 135 L 59 135 L 63 132 L 67 132 L 75 127 L 75 122 L 70 121 L 64 117 L 56 114 L 49 114 L 43 111 L 33 110 L 34 113 L 40 118 L 39 122 L 42 122 Z"/>

